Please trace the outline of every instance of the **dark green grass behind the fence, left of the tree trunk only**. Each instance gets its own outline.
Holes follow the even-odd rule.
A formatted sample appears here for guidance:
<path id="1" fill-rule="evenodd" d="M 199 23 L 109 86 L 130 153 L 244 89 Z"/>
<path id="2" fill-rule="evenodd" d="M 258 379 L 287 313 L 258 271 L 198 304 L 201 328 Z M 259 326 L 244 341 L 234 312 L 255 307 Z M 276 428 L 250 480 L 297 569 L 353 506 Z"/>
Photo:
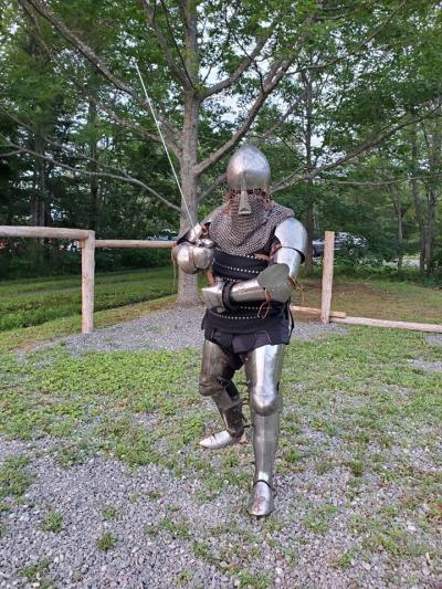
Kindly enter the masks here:
<path id="1" fill-rule="evenodd" d="M 95 311 L 122 307 L 176 291 L 173 267 L 97 273 Z M 81 277 L 51 277 L 0 284 L 0 332 L 81 314 Z"/>

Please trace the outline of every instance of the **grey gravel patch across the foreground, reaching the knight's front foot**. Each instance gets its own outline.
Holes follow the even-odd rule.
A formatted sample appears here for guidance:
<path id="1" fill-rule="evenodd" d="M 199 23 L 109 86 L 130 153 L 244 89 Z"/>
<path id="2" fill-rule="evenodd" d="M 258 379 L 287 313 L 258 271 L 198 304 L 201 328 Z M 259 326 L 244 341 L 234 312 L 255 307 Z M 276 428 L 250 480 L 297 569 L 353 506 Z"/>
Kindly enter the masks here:
<path id="1" fill-rule="evenodd" d="M 316 431 L 306 430 L 305 435 L 316 445 L 324 442 Z M 41 452 L 40 442 L 36 448 Z M 388 508 L 400 499 L 402 490 L 373 484 L 368 477 L 348 506 L 347 469 L 319 475 L 313 463 L 303 472 L 280 474 L 277 513 L 261 522 L 244 512 L 248 492 L 231 485 L 215 499 L 201 502 L 201 481 L 176 477 L 157 465 L 133 471 L 96 456 L 65 470 L 52 456 L 35 454 L 33 444 L 0 444 L 1 455 L 11 450 L 34 456 L 35 480 L 23 502 L 7 516 L 0 548 L 1 588 L 169 589 L 178 585 L 177 579 L 187 587 L 213 589 L 439 587 L 430 572 L 434 554 L 422 555 L 418 575 L 413 565 L 402 559 L 390 581 L 386 580 L 390 567 L 386 551 L 371 559 L 358 556 L 355 546 L 360 535 L 352 529 L 352 522 Z M 250 452 L 250 444 L 239 451 Z M 330 460 L 340 452 L 345 454 L 345 448 L 337 446 Z M 203 460 L 207 456 L 200 449 L 196 453 Z M 217 459 L 211 454 L 210 460 Z M 312 509 L 319 514 L 324 506 L 329 511 L 329 527 L 318 535 Z M 112 518 L 105 517 L 106 507 L 112 508 Z M 42 529 L 51 511 L 63 515 L 59 533 Z M 307 527 L 306 518 L 311 522 Z M 424 539 L 413 523 L 403 519 L 400 525 L 413 530 L 415 541 Z M 105 533 L 116 543 L 108 551 L 97 547 Z M 256 582 L 269 575 L 271 585 L 242 583 L 240 574 L 227 570 L 232 565 L 241 569 L 244 545 L 256 553 L 249 557 L 248 574 Z M 432 548 L 436 554 L 440 545 Z M 348 562 L 340 567 L 336 562 L 343 555 L 348 555 Z M 49 562 L 36 579 L 41 585 L 27 582 L 20 571 L 43 559 Z M 44 585 L 50 579 L 54 585 Z"/>

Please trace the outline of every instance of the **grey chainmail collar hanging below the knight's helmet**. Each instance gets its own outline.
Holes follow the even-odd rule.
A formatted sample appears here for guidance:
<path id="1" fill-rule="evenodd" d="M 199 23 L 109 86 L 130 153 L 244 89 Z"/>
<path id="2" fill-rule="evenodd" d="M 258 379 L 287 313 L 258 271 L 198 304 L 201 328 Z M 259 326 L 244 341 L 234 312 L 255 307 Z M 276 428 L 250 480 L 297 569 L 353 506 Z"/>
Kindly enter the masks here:
<path id="1" fill-rule="evenodd" d="M 238 214 L 239 193 L 230 194 L 228 203 L 213 211 L 210 239 L 229 254 L 249 255 L 260 252 L 276 225 L 294 217 L 291 209 L 266 200 L 261 191 L 251 191 L 249 202 L 252 214 Z"/>

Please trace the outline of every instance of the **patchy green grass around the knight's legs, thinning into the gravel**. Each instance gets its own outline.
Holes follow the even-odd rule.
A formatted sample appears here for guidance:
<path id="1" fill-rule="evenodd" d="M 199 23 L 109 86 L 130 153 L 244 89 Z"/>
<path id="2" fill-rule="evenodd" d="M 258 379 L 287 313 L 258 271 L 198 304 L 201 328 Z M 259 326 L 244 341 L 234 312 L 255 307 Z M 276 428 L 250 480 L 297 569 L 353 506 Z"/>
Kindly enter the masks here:
<path id="1" fill-rule="evenodd" d="M 382 566 L 391 571 L 406 560 L 420 570 L 427 553 L 435 559 L 432 545 L 441 525 L 442 374 L 424 371 L 409 362 L 413 359 L 440 361 L 442 348 L 431 346 L 419 333 L 365 327 L 287 348 L 277 477 L 308 470 L 309 476 L 319 480 L 334 476 L 338 469 L 345 480 L 338 507 L 327 497 L 306 502 L 294 488 L 290 513 L 277 513 L 253 528 L 246 523 L 238 526 L 238 541 L 228 547 L 224 543 L 222 550 L 212 538 L 222 539 L 229 526 L 201 534 L 198 522 L 189 524 L 183 514 L 173 513 L 173 505 L 159 523 L 145 527 L 146 534 L 186 539 L 196 557 L 235 576 L 242 586 L 267 587 L 271 578 L 252 575 L 260 562 L 261 543 L 269 545 L 275 561 L 296 567 L 299 547 L 281 549 L 281 537 L 301 504 L 299 543 L 304 535 L 320 539 L 333 534 L 344 511 L 357 513 L 356 497 L 364 503 L 367 493 L 380 488 L 386 496 L 391 493 L 391 501 L 350 522 L 350 548 L 334 554 L 330 566 L 345 569 L 354 560 L 369 562 L 380 554 L 387 559 Z M 206 424 L 215 419 L 198 395 L 199 365 L 200 353 L 194 350 L 73 357 L 59 346 L 25 356 L 0 353 L 0 434 L 23 440 L 57 437 L 60 443 L 52 452 L 65 469 L 95 454 L 120 460 L 130 469 L 160 464 L 201 483 L 197 503 L 215 499 L 227 485 L 246 496 L 251 444 L 228 448 L 210 460 L 198 449 Z M 238 380 L 244 391 L 243 376 Z M 413 460 L 417 452 L 424 452 L 433 466 L 423 467 Z M 0 499 L 6 497 L 8 508 L 32 482 L 29 460 L 8 459 L 0 469 L 0 482 L 6 490 Z M 158 498 L 155 490 L 128 497 L 134 503 Z M 116 516 L 113 506 L 103 507 L 104 519 Z M 419 534 L 410 533 L 404 522 L 412 522 Z M 106 550 L 115 543 L 116 537 L 107 533 L 98 545 Z M 183 575 L 177 582 L 187 580 Z"/>

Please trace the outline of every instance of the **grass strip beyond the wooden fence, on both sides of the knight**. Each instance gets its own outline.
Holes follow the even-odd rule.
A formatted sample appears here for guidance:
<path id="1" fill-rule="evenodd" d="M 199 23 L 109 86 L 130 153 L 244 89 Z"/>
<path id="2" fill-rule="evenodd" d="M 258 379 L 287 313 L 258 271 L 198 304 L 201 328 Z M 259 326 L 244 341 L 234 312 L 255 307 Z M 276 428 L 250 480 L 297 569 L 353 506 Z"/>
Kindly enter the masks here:
<path id="1" fill-rule="evenodd" d="M 203 282 L 201 278 L 201 284 Z M 171 305 L 176 283 L 172 266 L 97 273 L 96 327 L 135 319 L 151 309 Z M 302 278 L 301 285 L 302 293 L 296 292 L 293 302 L 319 306 L 320 280 Z M 361 317 L 442 323 L 441 288 L 409 282 L 348 281 L 338 276 L 332 308 Z M 3 282 L 0 284 L 0 350 L 77 333 L 80 313 L 80 277 Z"/>

